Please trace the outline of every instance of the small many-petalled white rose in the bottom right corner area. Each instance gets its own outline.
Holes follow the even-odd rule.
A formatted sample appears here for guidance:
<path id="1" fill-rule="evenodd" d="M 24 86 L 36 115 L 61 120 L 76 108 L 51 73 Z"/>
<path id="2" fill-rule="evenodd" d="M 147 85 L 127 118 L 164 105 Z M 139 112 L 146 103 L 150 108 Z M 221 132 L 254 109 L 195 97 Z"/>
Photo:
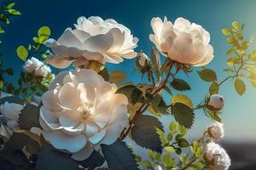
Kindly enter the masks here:
<path id="1" fill-rule="evenodd" d="M 213 170 L 226 170 L 230 167 L 230 156 L 218 144 L 210 142 L 206 146 L 205 159 Z"/>

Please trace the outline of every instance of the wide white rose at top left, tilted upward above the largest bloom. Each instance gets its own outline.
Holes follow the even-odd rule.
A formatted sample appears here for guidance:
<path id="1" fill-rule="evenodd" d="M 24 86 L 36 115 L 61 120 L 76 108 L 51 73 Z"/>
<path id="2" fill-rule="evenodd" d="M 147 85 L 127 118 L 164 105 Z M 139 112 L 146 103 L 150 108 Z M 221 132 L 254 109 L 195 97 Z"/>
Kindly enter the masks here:
<path id="1" fill-rule="evenodd" d="M 80 17 L 74 26 L 76 29 L 67 28 L 57 41 L 49 39 L 45 43 L 55 53 L 48 56 L 50 65 L 85 67 L 90 60 L 117 64 L 123 58 L 131 59 L 137 55 L 133 50 L 137 47 L 137 37 L 113 19 Z"/>

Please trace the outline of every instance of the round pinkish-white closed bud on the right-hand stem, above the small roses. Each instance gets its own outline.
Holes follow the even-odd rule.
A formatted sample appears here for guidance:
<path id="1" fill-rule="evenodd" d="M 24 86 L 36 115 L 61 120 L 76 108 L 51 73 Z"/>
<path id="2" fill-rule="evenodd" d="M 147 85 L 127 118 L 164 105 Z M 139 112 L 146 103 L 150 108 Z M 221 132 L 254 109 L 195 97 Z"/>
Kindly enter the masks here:
<path id="1" fill-rule="evenodd" d="M 207 103 L 207 109 L 219 111 L 224 107 L 224 97 L 219 94 L 212 94 Z"/>

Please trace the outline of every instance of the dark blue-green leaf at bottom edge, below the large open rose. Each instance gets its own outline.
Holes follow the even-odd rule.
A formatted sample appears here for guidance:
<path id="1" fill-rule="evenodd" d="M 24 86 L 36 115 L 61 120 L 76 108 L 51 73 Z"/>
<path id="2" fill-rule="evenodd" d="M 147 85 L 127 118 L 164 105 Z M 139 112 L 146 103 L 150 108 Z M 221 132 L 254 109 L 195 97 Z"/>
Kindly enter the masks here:
<path id="1" fill-rule="evenodd" d="M 125 142 L 117 139 L 113 144 L 101 144 L 102 153 L 108 162 L 108 168 L 111 170 L 138 170 L 135 156 L 128 149 Z"/>

